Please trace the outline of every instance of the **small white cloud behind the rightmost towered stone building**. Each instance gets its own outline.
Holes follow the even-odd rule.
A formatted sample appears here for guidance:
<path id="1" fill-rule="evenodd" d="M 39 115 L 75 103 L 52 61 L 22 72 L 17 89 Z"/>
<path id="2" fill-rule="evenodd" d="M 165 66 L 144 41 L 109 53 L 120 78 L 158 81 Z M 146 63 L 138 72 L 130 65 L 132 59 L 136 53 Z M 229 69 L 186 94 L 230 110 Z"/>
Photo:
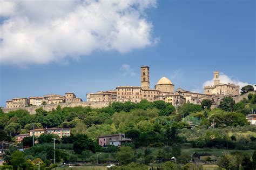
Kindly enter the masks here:
<path id="1" fill-rule="evenodd" d="M 240 89 L 241 89 L 241 87 L 244 87 L 244 86 L 249 84 L 247 82 L 242 82 L 238 78 L 235 78 L 233 76 L 229 77 L 229 76 L 227 76 L 226 74 L 224 74 L 222 72 L 220 72 L 219 78 L 220 78 L 220 83 L 224 83 L 224 84 L 233 83 L 235 85 L 239 85 Z M 207 80 L 203 84 L 203 86 L 211 86 L 211 85 L 213 85 L 213 79 L 212 80 Z"/>

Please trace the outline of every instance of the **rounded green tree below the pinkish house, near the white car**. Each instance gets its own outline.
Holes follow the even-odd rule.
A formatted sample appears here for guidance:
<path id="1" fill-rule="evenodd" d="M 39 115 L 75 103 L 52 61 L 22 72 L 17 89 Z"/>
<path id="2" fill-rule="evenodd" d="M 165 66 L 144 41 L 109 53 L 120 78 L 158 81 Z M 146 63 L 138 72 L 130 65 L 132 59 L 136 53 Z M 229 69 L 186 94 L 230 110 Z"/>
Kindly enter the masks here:
<path id="1" fill-rule="evenodd" d="M 121 146 L 117 152 L 117 160 L 120 164 L 129 164 L 134 158 L 134 150 L 129 146 Z"/>

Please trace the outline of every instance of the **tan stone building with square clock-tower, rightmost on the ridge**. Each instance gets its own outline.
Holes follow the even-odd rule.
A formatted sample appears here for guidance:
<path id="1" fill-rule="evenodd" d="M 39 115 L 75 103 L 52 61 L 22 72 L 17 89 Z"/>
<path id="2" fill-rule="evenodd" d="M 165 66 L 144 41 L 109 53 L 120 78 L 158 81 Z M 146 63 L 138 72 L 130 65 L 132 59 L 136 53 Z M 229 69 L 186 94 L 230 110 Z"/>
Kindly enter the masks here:
<path id="1" fill-rule="evenodd" d="M 239 96 L 239 86 L 228 83 L 220 83 L 219 71 L 213 72 L 213 85 L 204 87 L 204 94 L 215 94 L 221 96 Z"/>

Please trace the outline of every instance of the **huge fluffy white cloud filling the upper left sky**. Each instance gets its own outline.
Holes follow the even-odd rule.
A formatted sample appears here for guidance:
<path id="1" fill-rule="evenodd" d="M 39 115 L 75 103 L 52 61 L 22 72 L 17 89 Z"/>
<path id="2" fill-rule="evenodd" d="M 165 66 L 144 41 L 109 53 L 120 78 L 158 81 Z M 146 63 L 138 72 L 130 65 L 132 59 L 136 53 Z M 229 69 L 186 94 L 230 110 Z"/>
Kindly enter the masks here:
<path id="1" fill-rule="evenodd" d="M 156 43 L 145 9 L 152 0 L 0 0 L 0 62 L 66 61 L 95 50 L 125 53 Z"/>

